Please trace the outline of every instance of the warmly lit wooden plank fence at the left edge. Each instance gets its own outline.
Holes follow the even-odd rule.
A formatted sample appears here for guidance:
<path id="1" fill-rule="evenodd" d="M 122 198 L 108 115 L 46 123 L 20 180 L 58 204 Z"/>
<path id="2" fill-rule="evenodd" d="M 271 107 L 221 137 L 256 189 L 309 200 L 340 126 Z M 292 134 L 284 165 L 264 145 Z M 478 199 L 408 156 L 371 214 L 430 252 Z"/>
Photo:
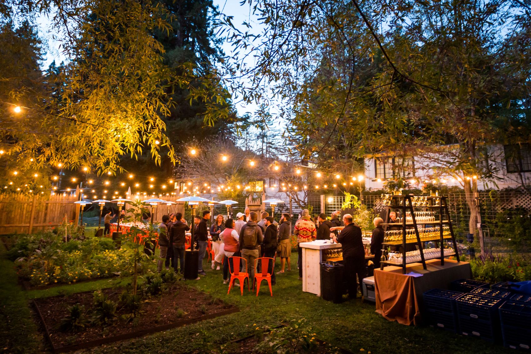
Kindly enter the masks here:
<path id="1" fill-rule="evenodd" d="M 0 195 L 0 234 L 32 233 L 77 220 L 79 206 L 75 195 Z"/>

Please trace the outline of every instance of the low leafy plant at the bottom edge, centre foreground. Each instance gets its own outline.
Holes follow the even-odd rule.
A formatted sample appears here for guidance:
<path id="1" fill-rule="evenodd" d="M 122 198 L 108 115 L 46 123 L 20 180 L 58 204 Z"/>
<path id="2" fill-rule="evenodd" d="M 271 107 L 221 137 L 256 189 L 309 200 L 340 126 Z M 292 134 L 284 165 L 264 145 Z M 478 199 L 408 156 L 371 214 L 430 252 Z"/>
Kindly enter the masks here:
<path id="1" fill-rule="evenodd" d="M 260 331 L 260 330 L 258 330 Z M 263 332 L 263 330 L 262 330 Z M 253 349 L 259 354 L 296 354 L 315 352 L 320 345 L 315 340 L 315 333 L 307 326 L 304 318 L 290 321 L 287 326 L 276 328 L 265 335 L 263 341 Z M 326 344 L 322 344 L 326 345 Z M 327 352 L 339 353 L 339 349 L 327 345 Z"/>

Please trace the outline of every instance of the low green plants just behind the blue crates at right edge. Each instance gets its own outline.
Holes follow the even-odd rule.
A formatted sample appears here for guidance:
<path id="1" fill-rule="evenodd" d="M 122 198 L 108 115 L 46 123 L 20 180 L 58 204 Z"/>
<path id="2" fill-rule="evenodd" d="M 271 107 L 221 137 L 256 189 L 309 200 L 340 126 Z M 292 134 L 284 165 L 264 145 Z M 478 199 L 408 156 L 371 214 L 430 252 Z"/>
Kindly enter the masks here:
<path id="1" fill-rule="evenodd" d="M 531 279 L 531 262 L 521 256 L 502 258 L 492 254 L 487 259 L 470 259 L 474 279 L 489 283 L 521 282 Z"/>

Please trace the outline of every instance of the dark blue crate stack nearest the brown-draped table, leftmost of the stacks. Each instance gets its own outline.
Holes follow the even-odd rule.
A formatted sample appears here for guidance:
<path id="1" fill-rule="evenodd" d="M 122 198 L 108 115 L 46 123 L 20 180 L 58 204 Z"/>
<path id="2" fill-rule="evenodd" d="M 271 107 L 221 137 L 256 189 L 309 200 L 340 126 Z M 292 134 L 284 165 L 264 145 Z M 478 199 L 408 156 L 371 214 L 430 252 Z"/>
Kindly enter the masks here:
<path id="1" fill-rule="evenodd" d="M 458 333 L 456 299 L 462 292 L 431 289 L 424 293 L 427 321 L 434 327 Z"/>

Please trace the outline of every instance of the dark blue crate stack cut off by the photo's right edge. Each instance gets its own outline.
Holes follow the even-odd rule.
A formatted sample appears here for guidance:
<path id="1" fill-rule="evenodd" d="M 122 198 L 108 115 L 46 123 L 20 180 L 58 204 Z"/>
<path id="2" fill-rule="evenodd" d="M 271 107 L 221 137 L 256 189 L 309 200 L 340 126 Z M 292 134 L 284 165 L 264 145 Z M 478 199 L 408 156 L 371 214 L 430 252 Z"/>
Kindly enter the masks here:
<path id="1" fill-rule="evenodd" d="M 520 296 L 520 295 L 519 295 Z M 513 296 L 514 297 L 514 296 Z M 531 348 L 531 297 L 527 301 L 508 300 L 500 306 L 503 345 L 513 349 Z"/>

